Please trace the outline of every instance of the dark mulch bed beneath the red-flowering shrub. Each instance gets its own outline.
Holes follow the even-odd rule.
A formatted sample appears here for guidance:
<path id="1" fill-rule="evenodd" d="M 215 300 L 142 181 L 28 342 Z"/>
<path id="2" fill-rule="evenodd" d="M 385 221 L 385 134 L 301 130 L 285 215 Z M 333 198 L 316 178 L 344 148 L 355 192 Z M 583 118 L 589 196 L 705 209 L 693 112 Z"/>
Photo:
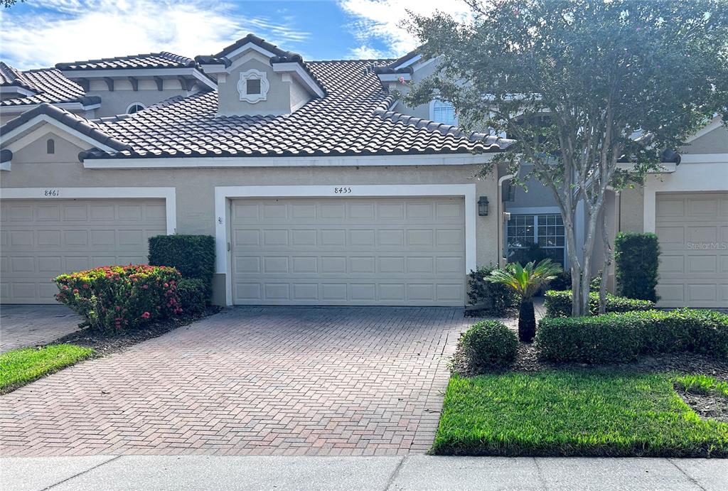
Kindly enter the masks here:
<path id="1" fill-rule="evenodd" d="M 142 343 L 143 341 L 151 338 L 158 338 L 159 336 L 178 329 L 179 327 L 189 325 L 192 322 L 203 319 L 204 317 L 217 314 L 220 310 L 221 308 L 218 306 L 210 306 L 202 314 L 167 319 L 141 329 L 128 330 L 114 334 L 107 334 L 105 332 L 85 328 L 65 335 L 63 338 L 58 338 L 53 341 L 52 344 L 70 343 L 78 346 L 86 346 L 87 348 L 95 349 L 96 352 L 102 356 L 118 353 L 119 351 L 123 351 L 135 344 Z"/>

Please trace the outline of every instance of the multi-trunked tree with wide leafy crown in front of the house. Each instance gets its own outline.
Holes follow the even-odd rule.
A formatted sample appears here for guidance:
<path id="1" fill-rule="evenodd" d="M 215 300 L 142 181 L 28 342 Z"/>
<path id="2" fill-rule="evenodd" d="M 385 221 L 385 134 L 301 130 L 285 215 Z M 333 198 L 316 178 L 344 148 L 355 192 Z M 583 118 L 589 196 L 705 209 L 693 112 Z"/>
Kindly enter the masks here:
<path id="1" fill-rule="evenodd" d="M 533 164 L 521 182 L 537 177 L 555 196 L 572 315 L 588 315 L 607 189 L 641 183 L 663 151 L 683 145 L 716 113 L 728 121 L 728 8 L 724 0 L 467 3 L 472 15 L 463 22 L 442 12 L 411 17 L 420 52 L 437 58 L 438 68 L 405 101 L 437 97 L 455 106 L 466 129 L 515 138 L 481 174 L 503 164 L 518 175 L 523 162 Z M 583 244 L 574 231 L 579 201 Z"/>

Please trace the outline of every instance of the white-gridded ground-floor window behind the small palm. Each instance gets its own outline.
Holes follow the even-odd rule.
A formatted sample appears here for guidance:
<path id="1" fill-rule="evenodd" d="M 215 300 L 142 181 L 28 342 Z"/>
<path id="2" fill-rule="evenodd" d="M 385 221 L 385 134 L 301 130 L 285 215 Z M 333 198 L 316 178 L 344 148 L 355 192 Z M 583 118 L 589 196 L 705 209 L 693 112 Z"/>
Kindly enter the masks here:
<path id="1" fill-rule="evenodd" d="M 525 252 L 534 247 L 534 244 L 538 244 L 555 263 L 561 266 L 566 263 L 566 232 L 561 215 L 558 213 L 511 215 L 506 236 L 509 260 L 523 262 L 519 250 Z"/>

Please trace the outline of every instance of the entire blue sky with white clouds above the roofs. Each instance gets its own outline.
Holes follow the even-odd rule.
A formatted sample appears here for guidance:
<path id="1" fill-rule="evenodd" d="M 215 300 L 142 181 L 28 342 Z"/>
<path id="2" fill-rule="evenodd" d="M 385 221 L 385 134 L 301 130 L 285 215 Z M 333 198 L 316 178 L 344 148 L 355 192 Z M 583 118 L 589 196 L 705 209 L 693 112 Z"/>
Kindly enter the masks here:
<path id="1" fill-rule="evenodd" d="M 416 46 L 407 9 L 435 0 L 27 0 L 0 9 L 0 58 L 20 69 L 171 51 L 210 55 L 252 32 L 307 60 L 397 57 Z M 448 11 L 463 12 L 454 0 Z"/>

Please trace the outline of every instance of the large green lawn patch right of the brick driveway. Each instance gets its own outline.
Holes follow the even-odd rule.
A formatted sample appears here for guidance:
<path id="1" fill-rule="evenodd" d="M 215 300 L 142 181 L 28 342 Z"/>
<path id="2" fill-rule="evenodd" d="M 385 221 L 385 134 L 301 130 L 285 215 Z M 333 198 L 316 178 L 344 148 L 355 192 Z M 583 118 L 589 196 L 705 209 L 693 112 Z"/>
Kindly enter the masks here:
<path id="1" fill-rule="evenodd" d="M 701 420 L 673 379 L 568 371 L 453 376 L 432 452 L 728 456 L 728 424 Z"/>

